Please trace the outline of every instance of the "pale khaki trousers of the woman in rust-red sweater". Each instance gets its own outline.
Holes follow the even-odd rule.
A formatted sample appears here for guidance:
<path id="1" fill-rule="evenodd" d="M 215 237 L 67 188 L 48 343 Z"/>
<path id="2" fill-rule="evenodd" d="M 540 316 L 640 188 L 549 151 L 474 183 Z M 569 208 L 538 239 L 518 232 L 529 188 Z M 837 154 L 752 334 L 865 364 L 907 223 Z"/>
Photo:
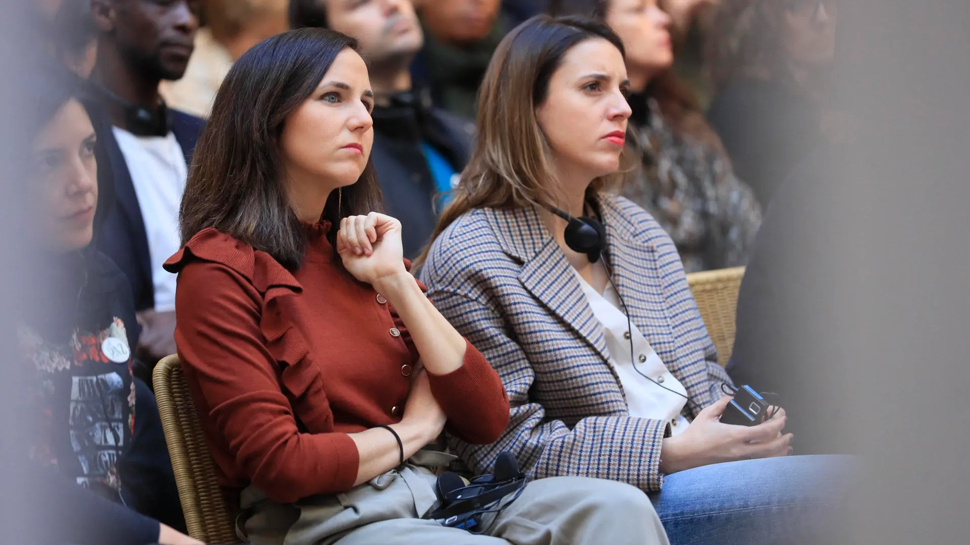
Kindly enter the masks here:
<path id="1" fill-rule="evenodd" d="M 347 493 L 286 505 L 250 487 L 242 493 L 242 537 L 281 545 L 669 545 L 650 499 L 617 481 L 532 481 L 501 513 L 486 515 L 488 529 L 474 535 L 420 518 L 436 499 L 435 479 L 430 469 L 405 464 Z"/>

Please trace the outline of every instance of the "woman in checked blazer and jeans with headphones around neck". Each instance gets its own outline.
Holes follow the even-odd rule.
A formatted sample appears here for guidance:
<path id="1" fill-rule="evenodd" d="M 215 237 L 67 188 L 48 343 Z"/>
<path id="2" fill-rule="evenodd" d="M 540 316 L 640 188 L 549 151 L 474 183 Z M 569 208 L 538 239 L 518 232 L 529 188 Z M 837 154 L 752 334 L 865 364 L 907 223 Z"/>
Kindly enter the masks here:
<path id="1" fill-rule="evenodd" d="M 730 379 L 677 250 L 616 196 L 629 85 L 620 40 L 585 18 L 533 17 L 492 59 L 477 148 L 421 275 L 499 371 L 511 414 L 498 442 L 451 445 L 475 470 L 510 451 L 539 478 L 637 486 L 675 545 L 814 536 L 848 461 L 789 457 L 783 410 L 719 421 Z M 566 237 L 580 222 L 604 243 Z"/>

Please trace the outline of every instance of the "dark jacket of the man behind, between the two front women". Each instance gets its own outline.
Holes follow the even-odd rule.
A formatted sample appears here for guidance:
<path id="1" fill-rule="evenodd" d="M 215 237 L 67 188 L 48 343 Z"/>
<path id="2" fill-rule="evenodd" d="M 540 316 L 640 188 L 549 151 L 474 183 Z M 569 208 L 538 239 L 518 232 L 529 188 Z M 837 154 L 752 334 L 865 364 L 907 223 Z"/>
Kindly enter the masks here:
<path id="1" fill-rule="evenodd" d="M 421 143 L 447 158 L 456 173 L 469 161 L 474 124 L 431 105 L 427 93 L 402 93 L 373 111 L 371 158 L 387 213 L 401 220 L 404 257 L 413 259 L 437 222 L 438 192 Z"/>

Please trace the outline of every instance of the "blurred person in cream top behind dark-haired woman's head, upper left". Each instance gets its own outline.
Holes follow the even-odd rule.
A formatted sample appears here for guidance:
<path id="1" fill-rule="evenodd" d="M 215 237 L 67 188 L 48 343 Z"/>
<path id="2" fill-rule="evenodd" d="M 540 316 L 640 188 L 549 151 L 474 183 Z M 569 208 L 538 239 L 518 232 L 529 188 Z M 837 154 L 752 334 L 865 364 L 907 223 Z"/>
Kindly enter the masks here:
<path id="1" fill-rule="evenodd" d="M 205 25 L 178 80 L 162 80 L 161 94 L 172 108 L 208 117 L 219 83 L 249 48 L 283 32 L 287 0 L 201 0 Z"/>

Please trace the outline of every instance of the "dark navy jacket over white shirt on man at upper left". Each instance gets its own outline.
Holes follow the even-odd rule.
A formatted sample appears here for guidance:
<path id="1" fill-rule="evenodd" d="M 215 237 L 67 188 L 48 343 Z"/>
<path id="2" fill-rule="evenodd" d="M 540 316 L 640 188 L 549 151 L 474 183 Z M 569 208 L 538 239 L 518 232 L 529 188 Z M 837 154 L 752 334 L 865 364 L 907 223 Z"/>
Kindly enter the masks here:
<path id="1" fill-rule="evenodd" d="M 103 206 L 105 200 L 98 199 L 97 213 L 103 218 L 95 232 L 94 243 L 125 273 L 135 297 L 135 309 L 152 308 L 155 294 L 151 280 L 151 255 L 148 253 L 145 220 L 128 165 L 114 140 L 108 115 L 98 104 L 85 102 L 84 106 L 91 112 L 91 122 L 98 135 L 99 186 L 107 187 L 113 193 L 111 206 Z M 185 163 L 191 165 L 192 151 L 206 122 L 188 113 L 171 112 L 172 131 L 185 154 Z"/>

